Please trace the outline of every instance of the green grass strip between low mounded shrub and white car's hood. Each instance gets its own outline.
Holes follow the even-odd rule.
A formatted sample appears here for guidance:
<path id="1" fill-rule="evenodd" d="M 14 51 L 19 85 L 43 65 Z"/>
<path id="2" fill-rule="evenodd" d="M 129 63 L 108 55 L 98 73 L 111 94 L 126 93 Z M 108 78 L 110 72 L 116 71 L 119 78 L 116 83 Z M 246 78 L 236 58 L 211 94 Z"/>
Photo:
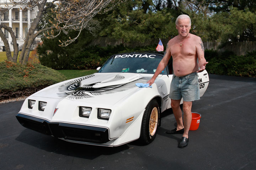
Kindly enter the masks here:
<path id="1" fill-rule="evenodd" d="M 57 70 L 57 71 L 64 74 L 67 80 L 74 79 L 77 77 L 82 77 L 85 75 L 90 75 L 97 72 L 97 70 Z"/>

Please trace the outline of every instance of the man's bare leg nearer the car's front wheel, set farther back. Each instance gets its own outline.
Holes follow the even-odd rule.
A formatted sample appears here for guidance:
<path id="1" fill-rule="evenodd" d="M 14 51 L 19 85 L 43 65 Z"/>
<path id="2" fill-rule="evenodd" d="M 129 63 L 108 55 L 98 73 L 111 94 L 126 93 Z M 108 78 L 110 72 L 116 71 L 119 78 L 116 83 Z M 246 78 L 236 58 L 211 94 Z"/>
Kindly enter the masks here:
<path id="1" fill-rule="evenodd" d="M 177 122 L 177 131 L 184 128 L 183 121 L 182 121 L 182 112 L 181 112 L 181 108 L 180 108 L 180 101 L 181 100 L 171 99 L 172 111 L 174 113 L 174 117 L 175 117 L 176 122 Z"/>

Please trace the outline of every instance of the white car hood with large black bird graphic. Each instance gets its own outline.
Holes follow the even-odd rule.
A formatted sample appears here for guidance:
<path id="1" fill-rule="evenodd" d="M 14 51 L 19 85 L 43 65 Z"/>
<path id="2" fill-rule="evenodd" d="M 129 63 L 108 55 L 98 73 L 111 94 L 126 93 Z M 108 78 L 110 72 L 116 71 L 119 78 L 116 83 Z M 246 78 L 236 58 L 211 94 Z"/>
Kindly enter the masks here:
<path id="1" fill-rule="evenodd" d="M 33 96 L 113 105 L 138 90 L 136 83 L 146 83 L 151 76 L 138 73 L 94 73 L 52 85 Z"/>

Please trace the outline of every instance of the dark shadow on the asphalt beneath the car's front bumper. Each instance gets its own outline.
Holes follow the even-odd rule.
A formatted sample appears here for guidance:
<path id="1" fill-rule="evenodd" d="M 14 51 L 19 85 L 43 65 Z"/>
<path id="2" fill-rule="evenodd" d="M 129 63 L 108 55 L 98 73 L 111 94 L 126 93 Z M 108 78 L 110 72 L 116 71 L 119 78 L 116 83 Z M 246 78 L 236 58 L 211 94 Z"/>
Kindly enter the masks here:
<path id="1" fill-rule="evenodd" d="M 129 149 L 129 146 L 127 145 L 121 145 L 118 147 L 102 147 L 71 143 L 53 136 L 40 134 L 29 129 L 23 130 L 20 135 L 17 136 L 16 140 L 47 152 L 84 159 L 95 159 L 100 155 L 112 155 Z"/>

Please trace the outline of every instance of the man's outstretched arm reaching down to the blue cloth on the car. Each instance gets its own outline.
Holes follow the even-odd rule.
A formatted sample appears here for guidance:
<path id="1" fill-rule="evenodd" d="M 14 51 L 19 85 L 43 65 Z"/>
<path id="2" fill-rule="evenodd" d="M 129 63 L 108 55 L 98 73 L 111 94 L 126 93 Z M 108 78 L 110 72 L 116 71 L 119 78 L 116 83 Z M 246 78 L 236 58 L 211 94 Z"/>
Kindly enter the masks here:
<path id="1" fill-rule="evenodd" d="M 158 77 L 158 75 L 162 72 L 162 70 L 165 69 L 165 67 L 168 64 L 168 61 L 171 57 L 171 51 L 170 48 L 168 47 L 169 42 L 166 45 L 166 50 L 164 53 L 164 57 L 162 58 L 162 60 L 160 61 L 160 63 L 158 64 L 158 67 L 156 68 L 156 72 L 153 75 L 153 77 L 147 82 L 149 83 L 149 86 L 151 86 L 151 84 L 153 84 L 155 82 L 155 79 Z"/>

